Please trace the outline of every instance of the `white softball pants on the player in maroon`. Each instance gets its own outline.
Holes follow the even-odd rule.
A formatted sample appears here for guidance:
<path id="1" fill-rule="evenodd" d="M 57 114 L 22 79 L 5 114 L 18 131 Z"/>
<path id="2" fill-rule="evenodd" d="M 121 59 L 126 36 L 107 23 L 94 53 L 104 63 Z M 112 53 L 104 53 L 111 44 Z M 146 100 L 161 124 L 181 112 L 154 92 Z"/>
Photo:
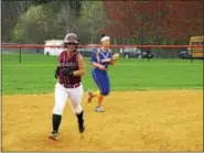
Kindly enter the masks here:
<path id="1" fill-rule="evenodd" d="M 74 113 L 78 114 L 82 112 L 82 99 L 83 99 L 83 85 L 76 88 L 65 88 L 58 81 L 55 84 L 55 105 L 53 109 L 54 114 L 63 114 L 67 99 Z"/>

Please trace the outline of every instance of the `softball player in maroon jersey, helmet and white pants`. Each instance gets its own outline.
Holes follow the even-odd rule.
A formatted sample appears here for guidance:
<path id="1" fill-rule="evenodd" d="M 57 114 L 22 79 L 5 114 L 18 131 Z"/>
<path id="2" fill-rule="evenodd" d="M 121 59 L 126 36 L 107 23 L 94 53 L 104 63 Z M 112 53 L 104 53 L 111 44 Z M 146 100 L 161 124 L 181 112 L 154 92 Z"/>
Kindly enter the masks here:
<path id="1" fill-rule="evenodd" d="M 85 131 L 83 119 L 82 98 L 84 94 L 82 76 L 86 73 L 86 66 L 83 56 L 77 52 L 78 36 L 75 33 L 68 33 L 64 40 L 65 51 L 58 57 L 58 66 L 55 72 L 55 78 L 58 78 L 55 85 L 55 105 L 53 108 L 52 125 L 53 130 L 49 134 L 50 139 L 56 140 L 62 120 L 63 110 L 67 98 L 69 106 L 76 114 L 78 130 Z"/>

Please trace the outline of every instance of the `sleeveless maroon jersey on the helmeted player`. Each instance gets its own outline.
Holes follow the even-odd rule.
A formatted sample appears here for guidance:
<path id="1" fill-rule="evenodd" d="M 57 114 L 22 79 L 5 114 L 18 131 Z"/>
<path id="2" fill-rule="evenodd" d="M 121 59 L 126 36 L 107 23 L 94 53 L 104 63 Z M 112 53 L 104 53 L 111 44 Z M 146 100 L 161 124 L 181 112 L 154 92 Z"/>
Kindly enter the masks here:
<path id="1" fill-rule="evenodd" d="M 78 70 L 78 64 L 77 64 L 77 56 L 78 52 L 75 52 L 67 56 L 67 52 L 64 51 L 61 53 L 58 57 L 60 67 L 63 67 L 60 69 L 60 83 L 64 85 L 75 85 L 79 84 L 82 78 L 80 76 L 64 76 L 63 69 L 64 68 L 71 68 L 72 70 Z"/>

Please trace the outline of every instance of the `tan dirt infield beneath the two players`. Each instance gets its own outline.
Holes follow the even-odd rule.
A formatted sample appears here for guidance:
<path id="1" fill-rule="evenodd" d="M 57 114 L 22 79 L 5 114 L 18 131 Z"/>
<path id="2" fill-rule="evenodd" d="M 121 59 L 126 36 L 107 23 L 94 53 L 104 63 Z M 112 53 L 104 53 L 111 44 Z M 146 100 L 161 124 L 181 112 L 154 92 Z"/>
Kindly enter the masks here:
<path id="1" fill-rule="evenodd" d="M 84 96 L 86 131 L 68 103 L 51 141 L 53 95 L 2 97 L 2 151 L 202 151 L 203 91 L 111 92 L 106 112 Z"/>

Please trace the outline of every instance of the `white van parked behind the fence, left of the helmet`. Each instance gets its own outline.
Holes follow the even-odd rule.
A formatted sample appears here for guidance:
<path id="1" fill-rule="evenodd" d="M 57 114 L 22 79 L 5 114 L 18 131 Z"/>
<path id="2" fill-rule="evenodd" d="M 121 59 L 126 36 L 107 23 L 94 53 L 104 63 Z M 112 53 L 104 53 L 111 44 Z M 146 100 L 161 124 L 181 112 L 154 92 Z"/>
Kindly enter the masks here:
<path id="1" fill-rule="evenodd" d="M 52 45 L 56 47 L 46 47 Z M 44 55 L 58 56 L 63 51 L 64 51 L 63 40 L 45 41 Z"/>

